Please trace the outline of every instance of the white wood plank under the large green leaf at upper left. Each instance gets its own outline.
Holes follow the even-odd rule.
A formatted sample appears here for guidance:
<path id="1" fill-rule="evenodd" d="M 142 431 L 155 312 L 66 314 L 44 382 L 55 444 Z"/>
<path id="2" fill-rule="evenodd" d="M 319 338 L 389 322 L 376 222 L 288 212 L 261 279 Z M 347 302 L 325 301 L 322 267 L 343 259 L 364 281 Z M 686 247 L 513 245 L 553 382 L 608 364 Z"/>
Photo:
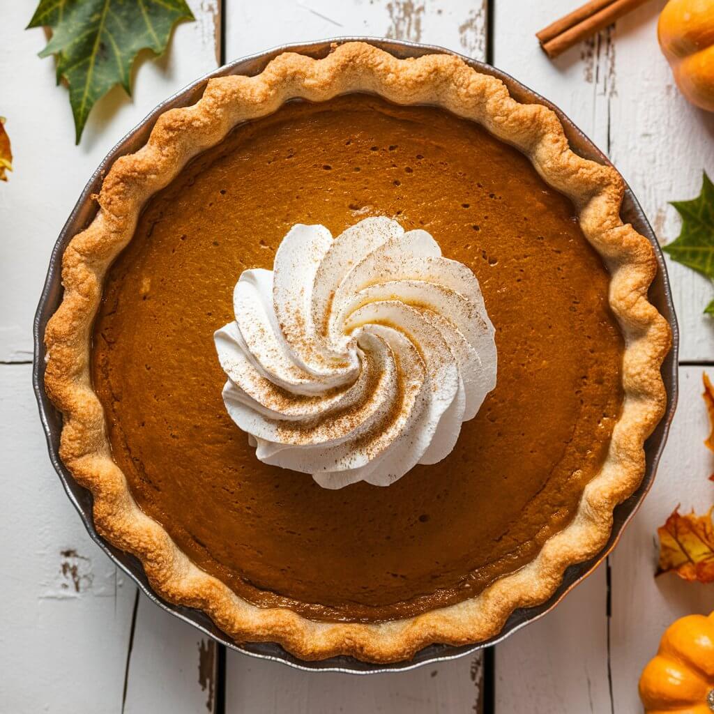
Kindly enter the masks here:
<path id="1" fill-rule="evenodd" d="M 55 86 L 53 59 L 39 59 L 41 29 L 26 31 L 31 3 L 5 3 L 0 22 L 2 116 L 11 136 L 14 171 L 0 193 L 2 261 L 0 361 L 31 357 L 31 320 L 54 241 L 79 193 L 107 151 L 151 109 L 216 66 L 218 0 L 191 3 L 196 22 L 176 27 L 169 51 L 139 61 L 134 99 L 119 87 L 89 116 L 80 146 L 67 89 Z M 12 239 L 11 239 L 12 238 Z"/>

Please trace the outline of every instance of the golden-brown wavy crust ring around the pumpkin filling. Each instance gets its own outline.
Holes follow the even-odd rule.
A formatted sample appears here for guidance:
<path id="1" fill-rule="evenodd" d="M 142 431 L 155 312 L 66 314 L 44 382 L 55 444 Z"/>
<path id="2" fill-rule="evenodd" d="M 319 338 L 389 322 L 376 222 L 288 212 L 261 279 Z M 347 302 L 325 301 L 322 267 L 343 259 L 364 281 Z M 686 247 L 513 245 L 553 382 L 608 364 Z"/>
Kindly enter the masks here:
<path id="1" fill-rule="evenodd" d="M 91 326 L 105 273 L 134 235 L 146 201 L 241 121 L 271 114 L 288 99 L 325 101 L 354 91 L 374 92 L 398 104 L 436 104 L 523 151 L 544 180 L 575 204 L 583 234 L 612 276 L 610 307 L 625 338 L 623 411 L 603 468 L 585 487 L 573 521 L 530 564 L 475 598 L 369 624 L 314 622 L 292 610 L 258 608 L 196 567 L 164 528 L 136 506 L 124 473 L 111 458 L 104 411 L 89 370 Z M 647 298 L 657 271 L 653 248 L 620 220 L 623 191 L 614 169 L 570 151 L 553 111 L 518 104 L 500 80 L 479 74 L 455 56 L 398 60 L 351 42 L 325 59 L 286 53 L 258 76 L 211 79 L 197 104 L 167 111 L 146 146 L 115 161 L 104 179 L 96 218 L 64 253 L 64 299 L 45 335 L 45 384 L 64 415 L 61 458 L 93 494 L 97 530 L 141 560 L 151 585 L 166 600 L 205 610 L 238 641 L 278 642 L 304 659 L 353 655 L 393 662 L 411 658 L 430 643 L 462 645 L 496 635 L 514 609 L 547 600 L 568 565 L 603 548 L 613 508 L 638 487 L 645 469 L 643 444 L 664 413 L 660 366 L 670 347 L 670 329 Z"/>

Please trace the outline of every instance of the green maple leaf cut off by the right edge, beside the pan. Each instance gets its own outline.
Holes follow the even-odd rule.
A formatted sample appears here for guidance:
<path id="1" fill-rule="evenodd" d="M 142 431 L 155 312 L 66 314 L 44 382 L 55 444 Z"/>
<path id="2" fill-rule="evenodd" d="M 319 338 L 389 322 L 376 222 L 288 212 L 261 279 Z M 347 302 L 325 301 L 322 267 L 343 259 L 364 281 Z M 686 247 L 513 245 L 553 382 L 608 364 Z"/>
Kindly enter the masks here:
<path id="1" fill-rule="evenodd" d="M 677 240 L 663 250 L 678 263 L 714 280 L 714 184 L 706 171 L 698 198 L 671 203 L 682 216 L 682 230 Z M 714 300 L 705 313 L 714 315 Z"/>

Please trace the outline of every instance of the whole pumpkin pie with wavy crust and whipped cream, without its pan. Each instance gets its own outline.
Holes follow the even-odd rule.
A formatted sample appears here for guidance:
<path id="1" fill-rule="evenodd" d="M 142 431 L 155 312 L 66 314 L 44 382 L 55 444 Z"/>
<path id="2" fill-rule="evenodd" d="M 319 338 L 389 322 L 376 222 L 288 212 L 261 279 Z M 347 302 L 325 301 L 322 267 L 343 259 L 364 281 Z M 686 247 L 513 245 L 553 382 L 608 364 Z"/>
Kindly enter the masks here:
<path id="1" fill-rule="evenodd" d="M 496 635 L 603 548 L 665 408 L 623 190 L 455 56 L 348 43 L 211 79 L 115 162 L 64 253 L 45 382 L 97 530 L 166 600 L 301 658 Z M 291 312 L 281 280 L 309 299 Z M 333 323 L 345 353 L 313 369 Z M 286 345 L 301 359 L 268 369 Z M 417 453 L 404 405 L 448 384 L 422 422 L 451 431 Z"/>

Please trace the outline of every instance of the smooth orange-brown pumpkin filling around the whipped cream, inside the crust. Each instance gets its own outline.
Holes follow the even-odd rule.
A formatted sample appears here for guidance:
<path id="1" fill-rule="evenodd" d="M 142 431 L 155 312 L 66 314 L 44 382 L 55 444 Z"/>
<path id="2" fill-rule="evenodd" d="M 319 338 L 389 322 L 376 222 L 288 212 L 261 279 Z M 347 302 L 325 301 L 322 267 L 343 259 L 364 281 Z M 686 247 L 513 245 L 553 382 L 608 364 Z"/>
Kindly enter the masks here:
<path id="1" fill-rule="evenodd" d="M 456 448 L 388 488 L 329 491 L 256 459 L 213 331 L 295 223 L 425 228 L 475 273 L 498 383 Z M 94 387 L 139 506 L 257 605 L 403 618 L 471 598 L 575 514 L 622 404 L 609 276 L 528 159 L 441 109 L 349 95 L 238 126 L 149 201 L 109 271 Z"/>

